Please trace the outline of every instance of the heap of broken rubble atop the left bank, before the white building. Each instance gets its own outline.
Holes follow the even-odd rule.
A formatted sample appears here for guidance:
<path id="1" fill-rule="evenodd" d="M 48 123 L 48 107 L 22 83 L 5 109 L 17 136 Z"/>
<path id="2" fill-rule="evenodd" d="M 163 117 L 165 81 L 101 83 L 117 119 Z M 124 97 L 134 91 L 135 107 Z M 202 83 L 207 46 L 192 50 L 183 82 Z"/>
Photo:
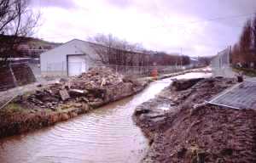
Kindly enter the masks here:
<path id="1" fill-rule="evenodd" d="M 61 79 L 60 82 L 28 96 L 26 101 L 41 109 L 58 110 L 90 104 L 98 107 L 131 95 L 137 83 L 123 81 L 123 77 L 108 68 L 94 68 L 80 76 Z M 123 92 L 122 92 L 123 91 Z M 80 103 L 80 104 L 75 104 Z"/>

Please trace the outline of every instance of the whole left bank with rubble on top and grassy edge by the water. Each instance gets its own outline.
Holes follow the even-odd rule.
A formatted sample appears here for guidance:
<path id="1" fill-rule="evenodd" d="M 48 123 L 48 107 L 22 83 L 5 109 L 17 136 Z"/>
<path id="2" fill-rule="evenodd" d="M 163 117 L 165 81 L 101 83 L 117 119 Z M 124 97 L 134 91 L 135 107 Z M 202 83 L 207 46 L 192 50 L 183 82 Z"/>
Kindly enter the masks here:
<path id="1" fill-rule="evenodd" d="M 26 93 L 0 110 L 0 138 L 32 131 L 131 96 L 146 87 L 106 68 L 96 68 Z"/>

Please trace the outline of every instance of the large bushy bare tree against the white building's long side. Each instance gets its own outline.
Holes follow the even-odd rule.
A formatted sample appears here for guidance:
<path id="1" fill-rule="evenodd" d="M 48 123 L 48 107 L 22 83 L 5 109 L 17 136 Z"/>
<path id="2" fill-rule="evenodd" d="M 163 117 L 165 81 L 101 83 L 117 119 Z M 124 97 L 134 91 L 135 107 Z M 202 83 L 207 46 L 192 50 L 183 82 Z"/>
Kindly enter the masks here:
<path id="1" fill-rule="evenodd" d="M 98 34 L 89 38 L 90 42 L 95 42 L 93 48 L 97 54 L 97 60 L 103 64 L 110 65 L 142 65 L 145 64 L 143 57 L 147 55 L 142 53 L 141 44 L 131 44 L 121 40 L 113 35 Z M 140 52 L 138 52 L 140 51 Z"/>

